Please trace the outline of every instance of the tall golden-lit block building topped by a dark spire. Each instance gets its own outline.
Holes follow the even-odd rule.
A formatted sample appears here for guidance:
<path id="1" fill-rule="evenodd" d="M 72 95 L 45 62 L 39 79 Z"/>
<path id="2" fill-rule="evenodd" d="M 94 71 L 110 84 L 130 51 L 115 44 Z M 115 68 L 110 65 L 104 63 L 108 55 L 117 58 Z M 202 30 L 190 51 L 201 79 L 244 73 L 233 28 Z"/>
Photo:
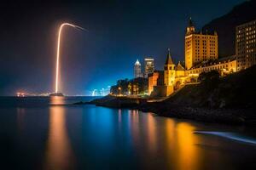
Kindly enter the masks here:
<path id="1" fill-rule="evenodd" d="M 185 68 L 189 70 L 202 61 L 218 59 L 218 35 L 195 32 L 191 18 L 185 36 Z"/>

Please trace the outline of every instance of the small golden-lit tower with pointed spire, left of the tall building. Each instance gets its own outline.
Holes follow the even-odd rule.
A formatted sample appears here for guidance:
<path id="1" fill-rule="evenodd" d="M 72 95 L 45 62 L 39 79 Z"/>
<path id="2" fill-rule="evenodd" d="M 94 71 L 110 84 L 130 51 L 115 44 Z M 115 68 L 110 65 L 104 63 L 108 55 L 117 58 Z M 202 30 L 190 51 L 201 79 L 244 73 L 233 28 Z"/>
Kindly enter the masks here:
<path id="1" fill-rule="evenodd" d="M 165 75 L 165 85 L 172 86 L 175 81 L 175 65 L 172 62 L 170 48 L 168 48 L 168 54 L 166 58 L 165 68 L 164 68 L 164 75 Z"/>

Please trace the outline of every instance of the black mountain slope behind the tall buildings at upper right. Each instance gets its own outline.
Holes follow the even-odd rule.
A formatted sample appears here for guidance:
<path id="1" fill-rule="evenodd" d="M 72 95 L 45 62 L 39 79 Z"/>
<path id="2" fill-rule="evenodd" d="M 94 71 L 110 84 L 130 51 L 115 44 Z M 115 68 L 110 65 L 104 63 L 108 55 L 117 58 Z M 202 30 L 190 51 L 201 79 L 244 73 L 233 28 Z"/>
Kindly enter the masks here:
<path id="1" fill-rule="evenodd" d="M 218 54 L 220 57 L 236 54 L 236 26 L 256 20 L 256 0 L 234 7 L 228 14 L 212 20 L 203 31 L 218 32 Z"/>

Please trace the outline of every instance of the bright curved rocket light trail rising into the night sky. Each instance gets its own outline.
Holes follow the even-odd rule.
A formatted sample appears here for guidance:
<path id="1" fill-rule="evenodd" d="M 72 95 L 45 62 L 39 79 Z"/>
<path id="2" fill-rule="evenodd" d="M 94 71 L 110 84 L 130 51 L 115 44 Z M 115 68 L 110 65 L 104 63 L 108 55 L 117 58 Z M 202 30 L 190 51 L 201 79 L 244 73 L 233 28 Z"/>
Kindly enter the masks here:
<path id="1" fill-rule="evenodd" d="M 55 77 L 55 93 L 58 93 L 58 86 L 59 86 L 59 59 L 60 59 L 60 48 L 61 48 L 61 31 L 64 26 L 72 26 L 73 28 L 77 28 L 83 31 L 86 31 L 84 28 L 80 26 L 76 26 L 69 23 L 63 23 L 61 24 L 59 28 L 59 34 L 58 34 L 58 46 L 57 46 L 57 59 L 56 59 L 56 77 Z"/>

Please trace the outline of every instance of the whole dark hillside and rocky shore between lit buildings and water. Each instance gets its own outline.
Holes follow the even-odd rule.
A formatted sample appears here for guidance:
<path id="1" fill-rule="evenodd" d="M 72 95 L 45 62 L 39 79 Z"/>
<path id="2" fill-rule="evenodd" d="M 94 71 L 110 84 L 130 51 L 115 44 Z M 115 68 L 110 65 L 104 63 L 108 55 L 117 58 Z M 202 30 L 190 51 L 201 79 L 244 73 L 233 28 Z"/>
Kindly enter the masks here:
<path id="1" fill-rule="evenodd" d="M 108 95 L 89 104 L 137 109 L 159 116 L 200 122 L 245 124 L 256 127 L 255 75 L 256 65 L 227 77 L 204 79 L 200 84 L 186 85 L 176 94 L 159 102 Z"/>

